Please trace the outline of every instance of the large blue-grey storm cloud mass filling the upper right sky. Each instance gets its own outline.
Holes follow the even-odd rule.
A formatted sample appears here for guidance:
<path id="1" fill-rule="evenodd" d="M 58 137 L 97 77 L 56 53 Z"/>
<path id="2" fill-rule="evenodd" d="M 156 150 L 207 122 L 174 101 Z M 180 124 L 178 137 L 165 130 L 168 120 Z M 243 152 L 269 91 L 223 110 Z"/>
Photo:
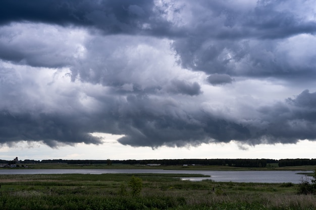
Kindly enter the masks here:
<path id="1" fill-rule="evenodd" d="M 305 11 L 298 14 L 292 10 L 294 2 L 258 1 L 254 8 L 244 10 L 229 7 L 227 2 L 201 4 L 204 7 L 195 9 L 199 15 L 193 18 L 192 27 L 187 28 L 191 36 L 173 43 L 183 67 L 230 76 L 315 75 L 311 67 L 315 66 L 315 60 L 309 61 L 308 66 L 296 63 L 293 68 L 291 59 L 279 51 L 282 39 L 316 32 L 316 22 L 307 15 L 304 17 Z"/>

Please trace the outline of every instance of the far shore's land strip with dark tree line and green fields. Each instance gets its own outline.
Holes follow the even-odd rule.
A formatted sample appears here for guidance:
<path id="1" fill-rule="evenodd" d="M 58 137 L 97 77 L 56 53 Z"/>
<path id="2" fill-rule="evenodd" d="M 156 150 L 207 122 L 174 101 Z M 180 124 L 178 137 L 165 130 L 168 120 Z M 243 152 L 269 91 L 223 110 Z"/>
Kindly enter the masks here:
<path id="1" fill-rule="evenodd" d="M 0 160 L 20 169 L 313 170 L 316 159 Z M 16 167 L 15 167 L 16 166 Z"/>

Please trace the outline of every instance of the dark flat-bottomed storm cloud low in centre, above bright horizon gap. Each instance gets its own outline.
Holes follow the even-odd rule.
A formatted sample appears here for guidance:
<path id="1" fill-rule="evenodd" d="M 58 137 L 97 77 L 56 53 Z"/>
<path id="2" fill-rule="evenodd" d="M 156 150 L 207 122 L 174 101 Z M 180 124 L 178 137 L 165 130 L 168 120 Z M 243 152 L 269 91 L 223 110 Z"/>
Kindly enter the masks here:
<path id="1" fill-rule="evenodd" d="M 126 132 L 119 142 L 131 146 L 184 147 L 187 144 L 197 146 L 210 142 L 228 143 L 231 139 L 246 141 L 250 136 L 249 130 L 238 123 L 203 114 L 198 112 L 194 116 L 187 114 L 185 118 L 178 118 L 170 113 L 149 121 L 148 118 L 134 118 L 136 121 L 132 125 L 140 126 Z"/>

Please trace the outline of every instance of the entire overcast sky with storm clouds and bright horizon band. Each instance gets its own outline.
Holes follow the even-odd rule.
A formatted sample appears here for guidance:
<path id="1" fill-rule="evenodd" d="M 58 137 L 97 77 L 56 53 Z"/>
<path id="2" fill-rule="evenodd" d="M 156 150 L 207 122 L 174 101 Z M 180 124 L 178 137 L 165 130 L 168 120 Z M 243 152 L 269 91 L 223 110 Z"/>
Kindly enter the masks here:
<path id="1" fill-rule="evenodd" d="M 315 34 L 313 0 L 3 0 L 0 159 L 315 158 Z"/>

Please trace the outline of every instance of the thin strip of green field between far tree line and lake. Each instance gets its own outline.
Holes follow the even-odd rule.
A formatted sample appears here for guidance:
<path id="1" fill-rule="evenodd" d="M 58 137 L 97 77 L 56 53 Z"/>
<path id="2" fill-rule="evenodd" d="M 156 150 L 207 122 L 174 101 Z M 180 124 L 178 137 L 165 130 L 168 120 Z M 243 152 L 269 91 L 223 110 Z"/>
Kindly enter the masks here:
<path id="1" fill-rule="evenodd" d="M 17 169 L 164 169 L 164 170 L 226 170 L 226 171 L 247 171 L 247 170 L 287 170 L 287 171 L 314 171 L 316 166 L 289 166 L 279 167 L 278 164 L 268 164 L 262 168 L 230 167 L 230 166 L 137 166 L 129 164 L 29 164 L 28 168 L 18 167 Z M 0 169 L 2 170 L 2 169 Z"/>

